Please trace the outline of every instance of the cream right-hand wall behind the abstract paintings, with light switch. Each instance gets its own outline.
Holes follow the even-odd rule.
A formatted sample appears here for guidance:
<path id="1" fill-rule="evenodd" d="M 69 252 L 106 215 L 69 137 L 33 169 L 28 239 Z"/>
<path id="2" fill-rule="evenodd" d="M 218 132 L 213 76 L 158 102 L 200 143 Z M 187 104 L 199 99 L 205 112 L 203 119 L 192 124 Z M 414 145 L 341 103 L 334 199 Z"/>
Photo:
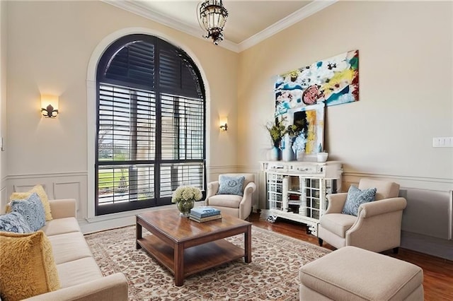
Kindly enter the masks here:
<path id="1" fill-rule="evenodd" d="M 452 189 L 453 148 L 432 148 L 453 136 L 452 15 L 450 1 L 338 1 L 241 52 L 239 165 L 256 170 L 271 146 L 276 74 L 359 49 L 360 101 L 326 109 L 329 160 L 346 184 Z"/>

